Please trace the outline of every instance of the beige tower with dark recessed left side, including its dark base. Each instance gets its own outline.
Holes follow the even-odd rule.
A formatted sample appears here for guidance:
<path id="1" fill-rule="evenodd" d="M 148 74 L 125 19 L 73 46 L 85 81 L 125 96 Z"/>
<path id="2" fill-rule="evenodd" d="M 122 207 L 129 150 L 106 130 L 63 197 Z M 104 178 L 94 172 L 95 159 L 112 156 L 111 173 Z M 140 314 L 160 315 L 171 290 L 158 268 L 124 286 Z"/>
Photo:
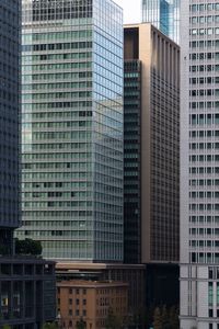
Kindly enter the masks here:
<path id="1" fill-rule="evenodd" d="M 150 23 L 124 39 L 124 260 L 147 264 L 152 304 L 177 304 L 180 48 Z"/>

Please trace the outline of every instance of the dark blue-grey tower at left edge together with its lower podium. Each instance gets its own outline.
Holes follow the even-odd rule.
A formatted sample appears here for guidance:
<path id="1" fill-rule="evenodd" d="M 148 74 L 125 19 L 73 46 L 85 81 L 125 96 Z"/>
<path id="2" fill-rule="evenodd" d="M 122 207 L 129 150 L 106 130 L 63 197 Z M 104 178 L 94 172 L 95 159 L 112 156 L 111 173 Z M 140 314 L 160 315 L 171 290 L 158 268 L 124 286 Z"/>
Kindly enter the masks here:
<path id="1" fill-rule="evenodd" d="M 0 328 L 36 329 L 56 317 L 55 263 L 13 256 L 21 219 L 21 2 L 0 2 Z"/>

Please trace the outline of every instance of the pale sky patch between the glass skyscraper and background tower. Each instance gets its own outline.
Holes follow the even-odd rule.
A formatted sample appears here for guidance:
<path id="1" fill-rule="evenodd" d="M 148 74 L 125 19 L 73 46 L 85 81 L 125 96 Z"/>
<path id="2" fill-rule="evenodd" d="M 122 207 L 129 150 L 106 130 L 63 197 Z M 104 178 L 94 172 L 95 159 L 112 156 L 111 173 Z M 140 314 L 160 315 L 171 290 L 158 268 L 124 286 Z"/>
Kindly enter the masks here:
<path id="1" fill-rule="evenodd" d="M 141 0 L 114 0 L 124 9 L 124 23 L 139 23 L 141 20 Z"/>

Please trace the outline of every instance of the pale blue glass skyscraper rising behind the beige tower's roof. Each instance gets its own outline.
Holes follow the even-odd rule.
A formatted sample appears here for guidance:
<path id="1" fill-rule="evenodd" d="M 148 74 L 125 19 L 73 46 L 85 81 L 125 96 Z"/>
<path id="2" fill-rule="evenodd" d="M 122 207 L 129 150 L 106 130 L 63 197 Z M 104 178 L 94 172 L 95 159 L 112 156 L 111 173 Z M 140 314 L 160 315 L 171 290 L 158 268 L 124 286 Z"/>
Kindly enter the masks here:
<path id="1" fill-rule="evenodd" d="M 180 0 L 142 0 L 142 22 L 180 43 Z"/>

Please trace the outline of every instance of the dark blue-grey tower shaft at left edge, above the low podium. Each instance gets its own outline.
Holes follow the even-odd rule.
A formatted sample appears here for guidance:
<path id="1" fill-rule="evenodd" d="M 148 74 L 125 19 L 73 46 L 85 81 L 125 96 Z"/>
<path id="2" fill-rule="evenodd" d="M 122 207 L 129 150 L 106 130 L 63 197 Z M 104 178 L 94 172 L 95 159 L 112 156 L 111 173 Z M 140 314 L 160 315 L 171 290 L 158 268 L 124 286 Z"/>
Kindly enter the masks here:
<path id="1" fill-rule="evenodd" d="M 12 252 L 19 216 L 20 1 L 0 7 L 0 253 Z"/>

